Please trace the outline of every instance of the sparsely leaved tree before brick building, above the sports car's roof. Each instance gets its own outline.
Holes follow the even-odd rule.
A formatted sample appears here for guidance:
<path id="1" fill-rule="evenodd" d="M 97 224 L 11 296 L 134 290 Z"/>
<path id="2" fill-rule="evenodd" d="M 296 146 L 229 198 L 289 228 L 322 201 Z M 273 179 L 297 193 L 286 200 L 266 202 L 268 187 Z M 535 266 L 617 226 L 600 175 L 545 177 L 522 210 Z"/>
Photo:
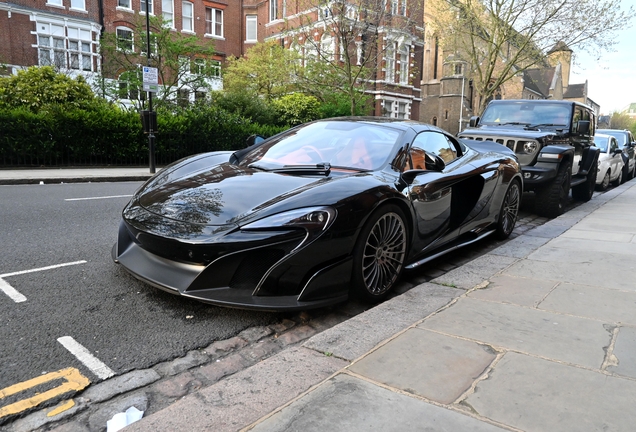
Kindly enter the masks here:
<path id="1" fill-rule="evenodd" d="M 410 46 L 422 38 L 422 0 L 409 0 L 408 8 L 405 1 L 397 0 L 300 0 L 299 4 L 299 11 L 311 12 L 287 20 L 283 32 L 301 56 L 298 85 L 323 102 L 334 92 L 346 95 L 352 115 L 368 99 L 365 90 L 378 79 L 386 55 L 394 56 L 396 45 Z M 400 79 L 410 84 L 411 72 Z M 391 74 L 387 72 L 387 82 L 395 79 Z"/>

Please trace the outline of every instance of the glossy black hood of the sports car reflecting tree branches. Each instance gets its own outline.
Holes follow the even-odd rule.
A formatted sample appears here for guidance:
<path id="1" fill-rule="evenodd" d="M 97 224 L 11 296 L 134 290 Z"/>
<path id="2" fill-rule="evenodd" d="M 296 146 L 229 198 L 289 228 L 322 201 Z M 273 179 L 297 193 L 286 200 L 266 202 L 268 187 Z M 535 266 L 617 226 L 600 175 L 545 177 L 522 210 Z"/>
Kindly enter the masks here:
<path id="1" fill-rule="evenodd" d="M 297 176 L 260 171 L 229 162 L 192 176 L 172 179 L 142 190 L 137 202 L 147 211 L 172 220 L 200 225 L 243 225 L 286 209 L 327 205 L 333 188 L 350 176 Z M 311 195 L 311 200 L 300 199 Z M 289 202 L 289 206 L 283 204 Z M 284 207 L 284 208 L 283 208 Z"/>

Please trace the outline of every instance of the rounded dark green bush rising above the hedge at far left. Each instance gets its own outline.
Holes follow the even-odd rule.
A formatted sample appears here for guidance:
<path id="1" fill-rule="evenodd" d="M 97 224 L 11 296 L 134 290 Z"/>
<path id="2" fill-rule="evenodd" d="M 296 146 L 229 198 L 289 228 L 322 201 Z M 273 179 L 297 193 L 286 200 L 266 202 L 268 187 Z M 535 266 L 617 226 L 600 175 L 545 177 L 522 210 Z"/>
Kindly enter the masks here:
<path id="1" fill-rule="evenodd" d="M 32 66 L 16 75 L 0 77 L 0 107 L 25 107 L 38 112 L 46 106 L 61 104 L 86 109 L 96 98 L 84 77 L 73 79 L 52 66 Z"/>

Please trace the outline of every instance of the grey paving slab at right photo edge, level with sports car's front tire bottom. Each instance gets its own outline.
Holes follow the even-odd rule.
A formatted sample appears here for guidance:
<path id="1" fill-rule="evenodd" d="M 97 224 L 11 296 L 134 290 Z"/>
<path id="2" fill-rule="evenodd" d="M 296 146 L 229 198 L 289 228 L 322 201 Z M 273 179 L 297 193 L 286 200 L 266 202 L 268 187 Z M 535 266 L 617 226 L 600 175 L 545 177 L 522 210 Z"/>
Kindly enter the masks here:
<path id="1" fill-rule="evenodd" d="M 636 325 L 636 292 L 564 283 L 541 302 L 539 309 Z"/>

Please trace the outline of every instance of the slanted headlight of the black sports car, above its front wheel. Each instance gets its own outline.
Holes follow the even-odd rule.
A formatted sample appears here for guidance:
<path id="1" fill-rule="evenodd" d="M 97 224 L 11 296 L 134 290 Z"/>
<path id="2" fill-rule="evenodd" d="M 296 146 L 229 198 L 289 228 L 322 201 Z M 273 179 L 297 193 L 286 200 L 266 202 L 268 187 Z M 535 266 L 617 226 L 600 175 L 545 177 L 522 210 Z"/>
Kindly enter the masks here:
<path id="1" fill-rule="evenodd" d="M 336 218 L 336 211 L 331 207 L 306 207 L 278 213 L 249 223 L 241 229 L 257 230 L 272 228 L 304 228 L 309 233 L 319 233 L 331 225 Z"/>

